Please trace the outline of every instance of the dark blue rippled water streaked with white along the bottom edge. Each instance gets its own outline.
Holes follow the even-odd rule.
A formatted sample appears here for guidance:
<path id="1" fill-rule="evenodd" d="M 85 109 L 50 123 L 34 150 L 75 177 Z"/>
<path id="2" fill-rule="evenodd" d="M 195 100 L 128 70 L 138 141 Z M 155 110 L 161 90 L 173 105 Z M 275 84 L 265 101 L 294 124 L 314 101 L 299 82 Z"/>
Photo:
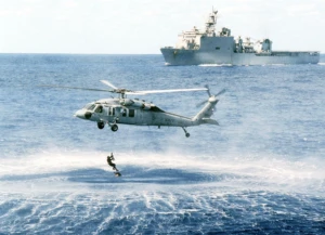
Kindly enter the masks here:
<path id="1" fill-rule="evenodd" d="M 116 187 L 112 187 L 115 191 Z M 0 232 L 24 234 L 322 233 L 322 201 L 268 192 L 48 194 L 1 204 Z M 2 196 L 0 196 L 2 200 Z M 289 216 L 288 216 L 289 214 Z M 14 223 L 11 221 L 14 219 Z"/>

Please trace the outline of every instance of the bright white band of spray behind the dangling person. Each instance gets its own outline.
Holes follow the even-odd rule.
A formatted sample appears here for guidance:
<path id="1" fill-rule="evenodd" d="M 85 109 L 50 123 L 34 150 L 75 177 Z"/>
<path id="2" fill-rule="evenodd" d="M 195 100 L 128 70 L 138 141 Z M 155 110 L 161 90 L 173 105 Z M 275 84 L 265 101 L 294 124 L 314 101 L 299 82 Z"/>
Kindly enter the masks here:
<path id="1" fill-rule="evenodd" d="M 103 152 L 43 152 L 24 158 L 2 159 L 0 175 L 32 174 L 65 171 L 82 168 L 107 168 Z M 269 179 L 325 179 L 325 171 L 320 169 L 324 160 L 317 158 L 290 161 L 273 156 L 237 155 L 197 156 L 181 153 L 115 153 L 118 166 L 131 165 L 145 168 L 173 168 L 210 172 L 239 173 Z"/>

